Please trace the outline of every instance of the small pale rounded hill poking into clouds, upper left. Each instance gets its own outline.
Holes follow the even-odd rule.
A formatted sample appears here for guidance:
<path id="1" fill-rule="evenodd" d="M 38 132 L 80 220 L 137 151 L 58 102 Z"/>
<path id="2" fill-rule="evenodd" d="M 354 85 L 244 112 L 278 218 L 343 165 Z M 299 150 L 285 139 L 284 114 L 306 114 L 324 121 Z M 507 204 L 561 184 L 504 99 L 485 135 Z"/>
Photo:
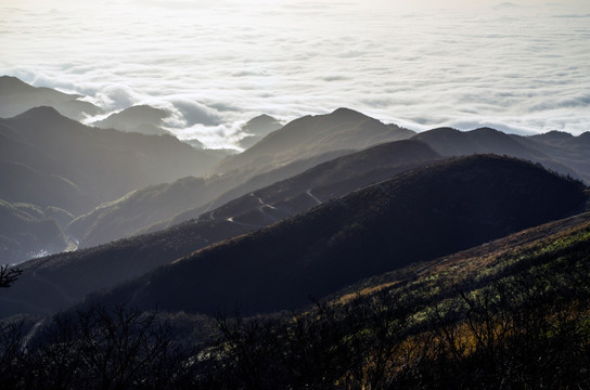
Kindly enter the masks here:
<path id="1" fill-rule="evenodd" d="M 169 116 L 165 109 L 154 108 L 149 105 L 137 105 L 112 114 L 103 120 L 92 123 L 102 129 L 116 129 L 121 131 L 139 132 L 142 134 L 162 135 L 168 134 L 162 126 L 162 120 Z"/>

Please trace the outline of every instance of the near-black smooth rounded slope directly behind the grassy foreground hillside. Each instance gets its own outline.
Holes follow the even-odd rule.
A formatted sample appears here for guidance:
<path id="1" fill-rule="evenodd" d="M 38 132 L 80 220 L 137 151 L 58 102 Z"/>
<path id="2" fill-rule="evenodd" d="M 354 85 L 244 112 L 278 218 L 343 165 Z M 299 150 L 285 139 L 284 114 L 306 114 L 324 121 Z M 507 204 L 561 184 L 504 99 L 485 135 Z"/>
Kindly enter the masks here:
<path id="1" fill-rule="evenodd" d="M 580 211 L 586 200 L 579 182 L 522 160 L 453 159 L 210 246 L 97 299 L 163 311 L 293 309 L 309 295 Z"/>

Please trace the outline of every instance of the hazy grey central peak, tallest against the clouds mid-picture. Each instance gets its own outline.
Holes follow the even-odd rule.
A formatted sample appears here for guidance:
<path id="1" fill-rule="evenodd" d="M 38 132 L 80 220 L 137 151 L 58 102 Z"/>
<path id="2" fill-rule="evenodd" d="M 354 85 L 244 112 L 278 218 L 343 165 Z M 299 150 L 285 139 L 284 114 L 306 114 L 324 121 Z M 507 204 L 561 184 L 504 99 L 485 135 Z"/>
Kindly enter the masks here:
<path id="1" fill-rule="evenodd" d="M 348 108 L 326 115 L 305 116 L 265 136 L 244 153 L 225 158 L 218 172 L 231 169 L 268 171 L 272 167 L 337 150 L 361 150 L 408 138 L 376 119 Z"/>

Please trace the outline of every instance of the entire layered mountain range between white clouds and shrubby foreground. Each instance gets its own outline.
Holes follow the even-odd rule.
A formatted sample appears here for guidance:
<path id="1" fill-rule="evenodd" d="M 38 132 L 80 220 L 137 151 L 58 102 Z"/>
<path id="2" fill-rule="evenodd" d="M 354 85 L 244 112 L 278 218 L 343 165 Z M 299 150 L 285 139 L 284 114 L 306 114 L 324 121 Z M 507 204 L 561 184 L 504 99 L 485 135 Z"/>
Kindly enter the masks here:
<path id="1" fill-rule="evenodd" d="M 99 113 L 78 95 L 10 77 L 0 87 L 0 103 L 14 102 L 0 113 L 0 256 L 28 260 L 0 295 L 0 317 L 33 324 L 27 337 L 44 332 L 36 324 L 47 315 L 92 307 L 158 310 L 175 329 L 235 308 L 313 317 L 310 297 L 418 299 L 440 273 L 487 288 L 535 261 L 553 264 L 543 253 L 568 232 L 577 244 L 567 250 L 585 250 L 589 132 L 415 133 L 338 108 L 284 126 L 255 117 L 242 128 L 245 151 L 228 155 L 168 134 L 161 108 L 90 127 L 64 115 Z M 520 265 L 498 265 L 509 260 Z"/>

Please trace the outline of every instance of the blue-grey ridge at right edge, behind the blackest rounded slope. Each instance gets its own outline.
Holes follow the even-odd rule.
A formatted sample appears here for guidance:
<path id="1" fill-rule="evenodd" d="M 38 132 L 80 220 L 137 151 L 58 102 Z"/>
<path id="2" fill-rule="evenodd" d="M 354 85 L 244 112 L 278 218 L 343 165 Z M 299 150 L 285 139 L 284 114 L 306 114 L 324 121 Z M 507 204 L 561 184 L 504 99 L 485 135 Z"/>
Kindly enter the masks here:
<path id="1" fill-rule="evenodd" d="M 570 160 L 564 155 L 564 151 L 559 147 L 542 145 L 534 142 L 531 138 L 509 135 L 490 128 L 472 131 L 439 128 L 416 134 L 414 138 L 427 143 L 442 156 L 493 153 L 540 162 L 548 169 L 577 179 L 585 179 L 590 173 L 590 170 L 576 169 L 569 164 Z M 590 158 L 588 160 L 590 161 Z"/>

